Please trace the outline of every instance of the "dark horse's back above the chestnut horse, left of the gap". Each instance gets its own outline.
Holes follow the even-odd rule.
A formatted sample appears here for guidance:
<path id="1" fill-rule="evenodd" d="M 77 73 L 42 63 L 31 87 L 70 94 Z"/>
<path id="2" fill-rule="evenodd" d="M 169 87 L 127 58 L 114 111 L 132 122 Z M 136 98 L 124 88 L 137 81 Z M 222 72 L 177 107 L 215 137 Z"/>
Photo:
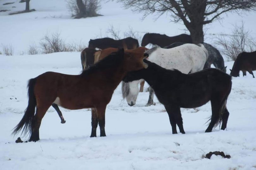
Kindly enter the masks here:
<path id="1" fill-rule="evenodd" d="M 113 38 L 98 38 L 95 40 L 90 39 L 88 48 L 99 48 L 101 50 L 106 48 L 119 48 L 134 49 L 139 47 L 138 40 L 127 37 L 121 40 L 114 40 Z"/>

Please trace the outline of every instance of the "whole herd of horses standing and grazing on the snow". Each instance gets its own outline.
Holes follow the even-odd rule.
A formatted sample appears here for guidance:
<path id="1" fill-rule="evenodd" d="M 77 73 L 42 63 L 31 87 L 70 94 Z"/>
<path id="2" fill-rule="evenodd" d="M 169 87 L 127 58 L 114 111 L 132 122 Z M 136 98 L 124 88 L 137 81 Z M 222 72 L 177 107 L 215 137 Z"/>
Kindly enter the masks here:
<path id="1" fill-rule="evenodd" d="M 148 49 L 145 47 L 148 44 L 154 47 Z M 96 137 L 98 124 L 100 136 L 106 136 L 106 106 L 121 81 L 123 98 L 130 106 L 136 104 L 138 93 L 147 81 L 150 87 L 146 106 L 154 104 L 155 93 L 168 113 L 173 134 L 177 134 L 176 125 L 185 134 L 181 107 L 200 107 L 208 101 L 212 115 L 205 132 L 211 132 L 221 123 L 224 130 L 229 118 L 226 103 L 231 76 L 239 76 L 240 70 L 243 75 L 246 71 L 253 75 L 256 52 L 240 53 L 228 75 L 222 55 L 210 44 L 192 44 L 187 34 L 169 37 L 147 33 L 141 47 L 131 37 L 91 39 L 88 48 L 81 52 L 81 64 L 82 73 L 78 75 L 46 72 L 29 80 L 28 106 L 13 134 L 22 131 L 30 135 L 29 141 L 40 140 L 41 120 L 49 107 L 52 106 L 61 123 L 65 123 L 58 107 L 61 106 L 71 110 L 91 108 L 91 137 Z M 211 64 L 216 69 L 210 68 Z"/>

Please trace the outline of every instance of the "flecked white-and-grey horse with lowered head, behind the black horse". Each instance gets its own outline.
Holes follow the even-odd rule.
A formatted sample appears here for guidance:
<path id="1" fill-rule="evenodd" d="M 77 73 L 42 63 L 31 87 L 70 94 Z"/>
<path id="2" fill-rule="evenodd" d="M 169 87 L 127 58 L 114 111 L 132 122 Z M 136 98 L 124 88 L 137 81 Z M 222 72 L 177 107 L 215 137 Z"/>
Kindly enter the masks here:
<path id="1" fill-rule="evenodd" d="M 195 73 L 204 68 L 208 52 L 202 44 L 184 44 L 171 49 L 154 46 L 145 53 L 149 54 L 148 60 L 166 69 L 178 69 L 182 73 Z M 122 94 L 130 106 L 136 104 L 139 93 L 138 84 L 143 80 L 136 80 L 122 84 Z M 153 102 L 154 90 L 149 87 L 149 100 L 146 106 Z"/>

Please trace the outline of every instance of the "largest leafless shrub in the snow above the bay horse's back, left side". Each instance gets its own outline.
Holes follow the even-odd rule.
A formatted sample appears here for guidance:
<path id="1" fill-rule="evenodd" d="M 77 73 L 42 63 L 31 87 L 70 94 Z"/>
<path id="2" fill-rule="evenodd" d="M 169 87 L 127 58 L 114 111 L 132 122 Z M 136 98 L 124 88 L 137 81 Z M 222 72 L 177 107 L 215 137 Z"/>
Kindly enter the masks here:
<path id="1" fill-rule="evenodd" d="M 71 51 L 70 46 L 66 45 L 64 40 L 60 37 L 59 32 L 55 32 L 52 35 L 49 35 L 47 32 L 41 39 L 40 46 L 43 54 Z"/>

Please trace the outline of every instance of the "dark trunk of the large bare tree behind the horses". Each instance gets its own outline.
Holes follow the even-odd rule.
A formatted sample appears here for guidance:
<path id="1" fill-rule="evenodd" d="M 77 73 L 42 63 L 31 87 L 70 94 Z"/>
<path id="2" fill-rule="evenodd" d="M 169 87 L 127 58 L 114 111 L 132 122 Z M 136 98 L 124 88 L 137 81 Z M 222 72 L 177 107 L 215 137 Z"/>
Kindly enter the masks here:
<path id="1" fill-rule="evenodd" d="M 204 42 L 203 25 L 188 27 L 188 30 L 190 32 L 190 35 L 194 44 L 199 44 Z"/>

